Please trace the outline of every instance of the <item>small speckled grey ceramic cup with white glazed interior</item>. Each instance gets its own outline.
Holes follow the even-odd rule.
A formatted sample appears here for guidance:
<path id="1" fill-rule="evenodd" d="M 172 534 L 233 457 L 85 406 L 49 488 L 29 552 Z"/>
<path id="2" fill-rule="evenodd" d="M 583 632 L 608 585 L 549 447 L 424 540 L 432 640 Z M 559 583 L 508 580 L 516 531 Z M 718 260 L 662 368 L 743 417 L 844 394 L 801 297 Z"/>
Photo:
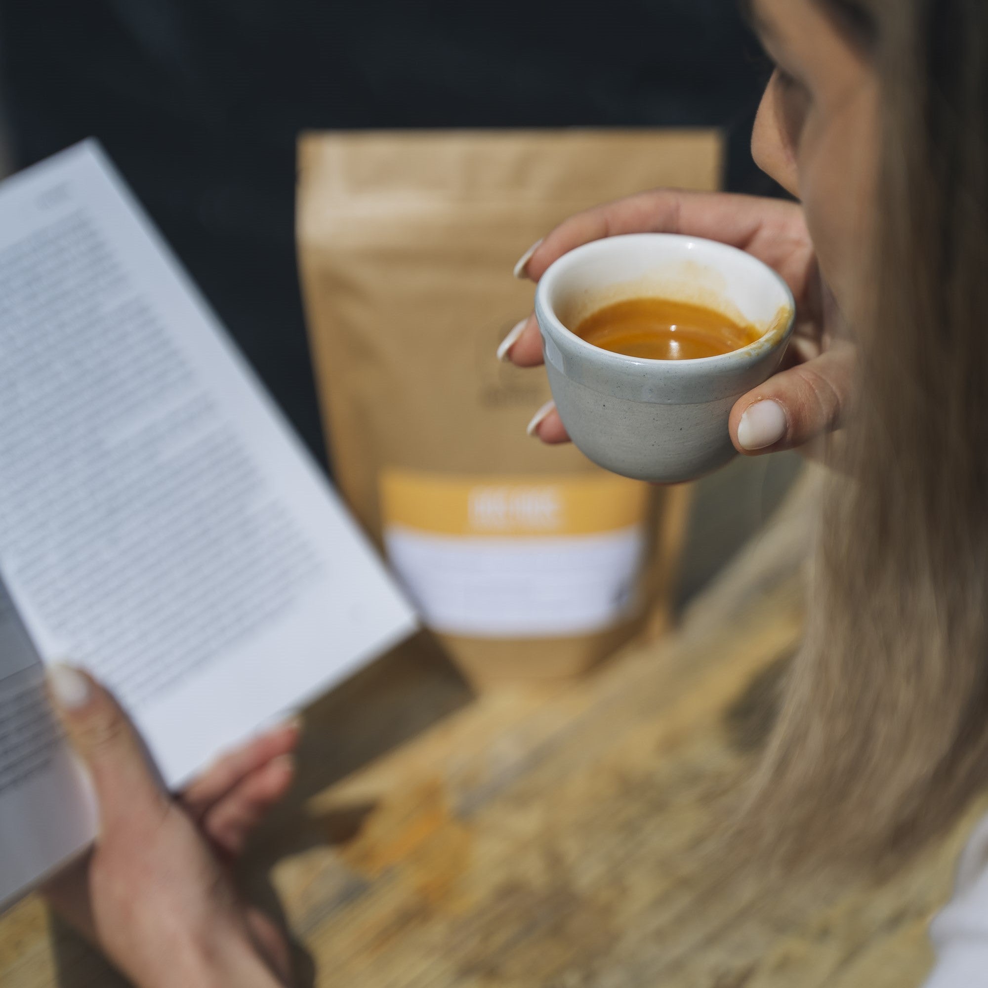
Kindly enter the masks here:
<path id="1" fill-rule="evenodd" d="M 568 327 L 604 305 L 661 296 L 708 305 L 762 330 L 720 357 L 656 361 L 601 350 Z M 734 455 L 734 403 L 775 373 L 795 316 L 771 268 L 712 240 L 664 233 L 609 237 L 559 258 L 535 293 L 552 397 L 576 446 L 615 473 L 694 480 Z"/>

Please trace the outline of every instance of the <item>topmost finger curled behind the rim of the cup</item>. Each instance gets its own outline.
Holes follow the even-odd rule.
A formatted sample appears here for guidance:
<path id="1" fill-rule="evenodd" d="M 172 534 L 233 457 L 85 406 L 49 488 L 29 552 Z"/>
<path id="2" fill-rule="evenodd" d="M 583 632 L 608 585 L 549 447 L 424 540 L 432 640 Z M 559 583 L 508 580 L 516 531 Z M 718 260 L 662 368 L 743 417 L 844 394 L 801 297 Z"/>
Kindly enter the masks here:
<path id="1" fill-rule="evenodd" d="M 794 246 L 805 246 L 804 229 L 799 207 L 791 203 L 658 189 L 566 219 L 535 245 L 520 274 L 537 282 L 555 260 L 593 240 L 623 233 L 681 233 L 748 250 L 785 277 L 784 259 Z M 798 258 L 800 265 L 804 262 Z"/>

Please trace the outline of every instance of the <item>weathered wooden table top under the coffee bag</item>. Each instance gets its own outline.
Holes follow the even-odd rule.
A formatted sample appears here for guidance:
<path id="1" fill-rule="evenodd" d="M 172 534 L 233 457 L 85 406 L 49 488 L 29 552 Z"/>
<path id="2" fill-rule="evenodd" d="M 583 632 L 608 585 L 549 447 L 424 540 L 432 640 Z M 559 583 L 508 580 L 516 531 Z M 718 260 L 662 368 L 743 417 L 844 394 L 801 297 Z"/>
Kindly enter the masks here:
<path id="1" fill-rule="evenodd" d="M 475 699 L 439 656 L 406 652 L 314 708 L 297 792 L 245 869 L 300 945 L 300 983 L 919 985 L 984 807 L 883 885 L 821 880 L 762 909 L 697 851 L 799 639 L 804 504 L 674 637 L 586 682 Z M 118 983 L 38 901 L 0 921 L 4 988 Z"/>

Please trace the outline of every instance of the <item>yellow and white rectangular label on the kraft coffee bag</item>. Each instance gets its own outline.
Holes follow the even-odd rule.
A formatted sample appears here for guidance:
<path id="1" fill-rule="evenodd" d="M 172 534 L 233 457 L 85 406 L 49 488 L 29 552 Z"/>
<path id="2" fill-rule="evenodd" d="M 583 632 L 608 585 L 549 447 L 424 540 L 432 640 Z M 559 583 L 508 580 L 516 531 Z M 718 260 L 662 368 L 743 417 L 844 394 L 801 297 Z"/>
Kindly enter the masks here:
<path id="1" fill-rule="evenodd" d="M 612 474 L 381 477 L 384 542 L 427 623 L 478 637 L 566 636 L 626 617 L 650 492 Z"/>

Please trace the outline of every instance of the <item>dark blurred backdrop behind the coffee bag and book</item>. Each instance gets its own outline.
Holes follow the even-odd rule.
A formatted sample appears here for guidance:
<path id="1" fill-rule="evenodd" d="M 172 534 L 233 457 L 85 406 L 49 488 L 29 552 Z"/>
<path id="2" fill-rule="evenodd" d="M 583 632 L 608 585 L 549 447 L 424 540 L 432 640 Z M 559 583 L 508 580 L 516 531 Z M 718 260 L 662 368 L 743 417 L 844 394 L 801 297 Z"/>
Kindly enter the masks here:
<path id="1" fill-rule="evenodd" d="M 736 0 L 0 0 L 14 160 L 99 137 L 324 458 L 293 245 L 306 128 L 710 125 L 766 78 Z"/>

